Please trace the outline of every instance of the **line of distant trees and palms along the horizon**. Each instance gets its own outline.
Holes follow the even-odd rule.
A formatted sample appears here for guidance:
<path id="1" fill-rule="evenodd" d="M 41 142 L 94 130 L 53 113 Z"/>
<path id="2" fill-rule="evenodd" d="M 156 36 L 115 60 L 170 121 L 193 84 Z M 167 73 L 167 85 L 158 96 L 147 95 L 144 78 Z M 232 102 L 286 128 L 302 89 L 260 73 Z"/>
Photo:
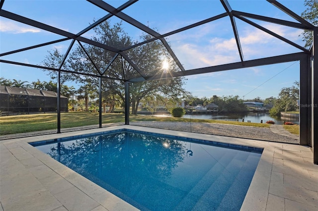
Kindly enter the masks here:
<path id="1" fill-rule="evenodd" d="M 57 92 L 57 84 L 54 83 L 52 80 L 49 82 L 41 82 L 39 79 L 37 81 L 29 83 L 28 81 L 21 81 L 21 80 L 10 80 L 4 79 L 3 77 L 0 78 L 0 84 L 3 86 L 12 86 L 12 87 L 19 87 L 19 88 L 28 88 L 28 89 L 38 89 L 38 90 L 47 90 L 47 91 L 54 91 Z M 297 100 L 299 100 L 299 82 L 295 81 L 294 85 L 291 87 L 282 88 L 278 97 L 270 97 L 266 99 L 261 99 L 260 97 L 256 97 L 254 99 L 246 99 L 242 100 L 239 96 L 216 96 L 213 95 L 211 98 L 203 97 L 198 98 L 192 96 L 190 92 L 187 92 L 187 95 L 184 96 L 184 104 L 186 106 L 197 106 L 203 105 L 207 106 L 209 104 L 215 104 L 219 106 L 219 112 L 247 112 L 247 107 L 243 104 L 244 102 L 260 102 L 264 103 L 266 106 L 270 106 L 271 109 L 269 113 L 271 115 L 280 115 L 282 111 L 299 111 L 299 106 L 297 105 Z M 72 99 L 69 101 L 69 106 L 73 107 L 79 106 L 81 110 L 88 111 L 89 107 L 88 104 L 90 103 L 91 109 L 96 109 L 99 100 L 96 100 L 97 91 L 93 90 L 93 88 L 89 85 L 81 86 L 78 90 L 76 90 L 73 86 L 69 87 L 67 85 L 63 85 L 61 87 L 61 95 Z M 74 99 L 75 97 L 75 99 Z M 95 100 L 94 100 L 95 99 Z M 110 106 L 108 112 L 113 112 L 115 106 L 122 106 L 119 103 L 120 98 L 116 98 L 113 96 L 113 107 Z M 155 112 L 160 106 L 165 107 L 167 110 L 171 110 L 177 104 L 180 104 L 181 99 L 178 100 L 169 100 L 164 98 L 163 96 L 157 95 L 155 96 L 148 96 L 140 101 L 143 103 L 145 108 L 152 113 Z M 104 111 L 106 110 L 105 107 L 109 106 L 103 102 Z M 136 110 L 137 111 L 137 110 Z M 137 114 L 137 112 L 136 112 Z"/>

